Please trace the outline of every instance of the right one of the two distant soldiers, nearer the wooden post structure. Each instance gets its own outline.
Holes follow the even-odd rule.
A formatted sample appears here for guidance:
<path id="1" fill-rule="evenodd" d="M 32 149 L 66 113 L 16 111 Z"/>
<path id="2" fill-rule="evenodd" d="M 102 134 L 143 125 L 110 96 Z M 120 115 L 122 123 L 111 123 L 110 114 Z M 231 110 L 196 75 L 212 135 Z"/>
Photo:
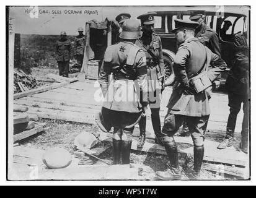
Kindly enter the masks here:
<path id="1" fill-rule="evenodd" d="M 84 48 L 86 45 L 86 37 L 83 34 L 84 30 L 83 28 L 78 28 L 78 33 L 74 38 L 74 58 L 77 60 L 77 63 L 79 64 L 79 72 L 81 71 L 82 62 L 84 61 Z"/>

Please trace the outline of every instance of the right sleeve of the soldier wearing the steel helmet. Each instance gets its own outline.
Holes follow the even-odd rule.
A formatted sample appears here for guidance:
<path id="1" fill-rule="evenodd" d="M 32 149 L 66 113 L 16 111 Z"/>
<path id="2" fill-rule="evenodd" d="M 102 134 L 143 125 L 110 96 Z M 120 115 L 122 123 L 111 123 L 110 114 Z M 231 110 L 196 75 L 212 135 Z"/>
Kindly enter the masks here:
<path id="1" fill-rule="evenodd" d="M 148 105 L 148 75 L 146 65 L 146 54 L 143 51 L 139 51 L 135 58 L 136 76 L 135 87 L 138 98 L 141 105 Z M 138 92 L 139 90 L 139 92 Z"/>

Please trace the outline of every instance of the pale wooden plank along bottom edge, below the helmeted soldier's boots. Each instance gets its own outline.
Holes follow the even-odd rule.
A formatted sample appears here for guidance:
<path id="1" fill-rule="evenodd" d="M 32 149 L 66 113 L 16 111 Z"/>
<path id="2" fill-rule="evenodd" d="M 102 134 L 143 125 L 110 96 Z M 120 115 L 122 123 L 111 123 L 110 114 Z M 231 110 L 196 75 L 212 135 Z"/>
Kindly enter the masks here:
<path id="1" fill-rule="evenodd" d="M 139 179 L 139 176 L 138 168 L 130 168 L 130 165 L 80 165 L 76 168 L 46 170 L 39 174 L 38 179 Z"/>

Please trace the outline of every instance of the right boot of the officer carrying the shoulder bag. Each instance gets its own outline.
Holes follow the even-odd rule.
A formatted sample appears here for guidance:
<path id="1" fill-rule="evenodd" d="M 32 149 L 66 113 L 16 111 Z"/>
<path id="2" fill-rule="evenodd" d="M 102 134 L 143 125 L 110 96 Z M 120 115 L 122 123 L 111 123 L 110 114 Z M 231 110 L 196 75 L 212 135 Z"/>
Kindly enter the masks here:
<path id="1" fill-rule="evenodd" d="M 203 163 L 203 155 L 205 154 L 205 147 L 194 146 L 194 168 L 193 170 L 186 171 L 188 179 L 197 180 L 200 178 L 201 165 Z"/>

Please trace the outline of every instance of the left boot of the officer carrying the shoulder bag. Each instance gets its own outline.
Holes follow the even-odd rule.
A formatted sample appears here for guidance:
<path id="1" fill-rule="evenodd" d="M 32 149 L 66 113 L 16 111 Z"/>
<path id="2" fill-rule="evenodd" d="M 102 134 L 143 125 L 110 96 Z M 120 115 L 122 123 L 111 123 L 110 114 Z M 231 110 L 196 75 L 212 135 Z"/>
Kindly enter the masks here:
<path id="1" fill-rule="evenodd" d="M 164 144 L 166 148 L 166 153 L 170 160 L 170 170 L 167 171 L 157 171 L 156 175 L 161 179 L 180 179 L 180 168 L 179 168 L 179 158 L 178 150 L 175 142 L 168 142 Z"/>

